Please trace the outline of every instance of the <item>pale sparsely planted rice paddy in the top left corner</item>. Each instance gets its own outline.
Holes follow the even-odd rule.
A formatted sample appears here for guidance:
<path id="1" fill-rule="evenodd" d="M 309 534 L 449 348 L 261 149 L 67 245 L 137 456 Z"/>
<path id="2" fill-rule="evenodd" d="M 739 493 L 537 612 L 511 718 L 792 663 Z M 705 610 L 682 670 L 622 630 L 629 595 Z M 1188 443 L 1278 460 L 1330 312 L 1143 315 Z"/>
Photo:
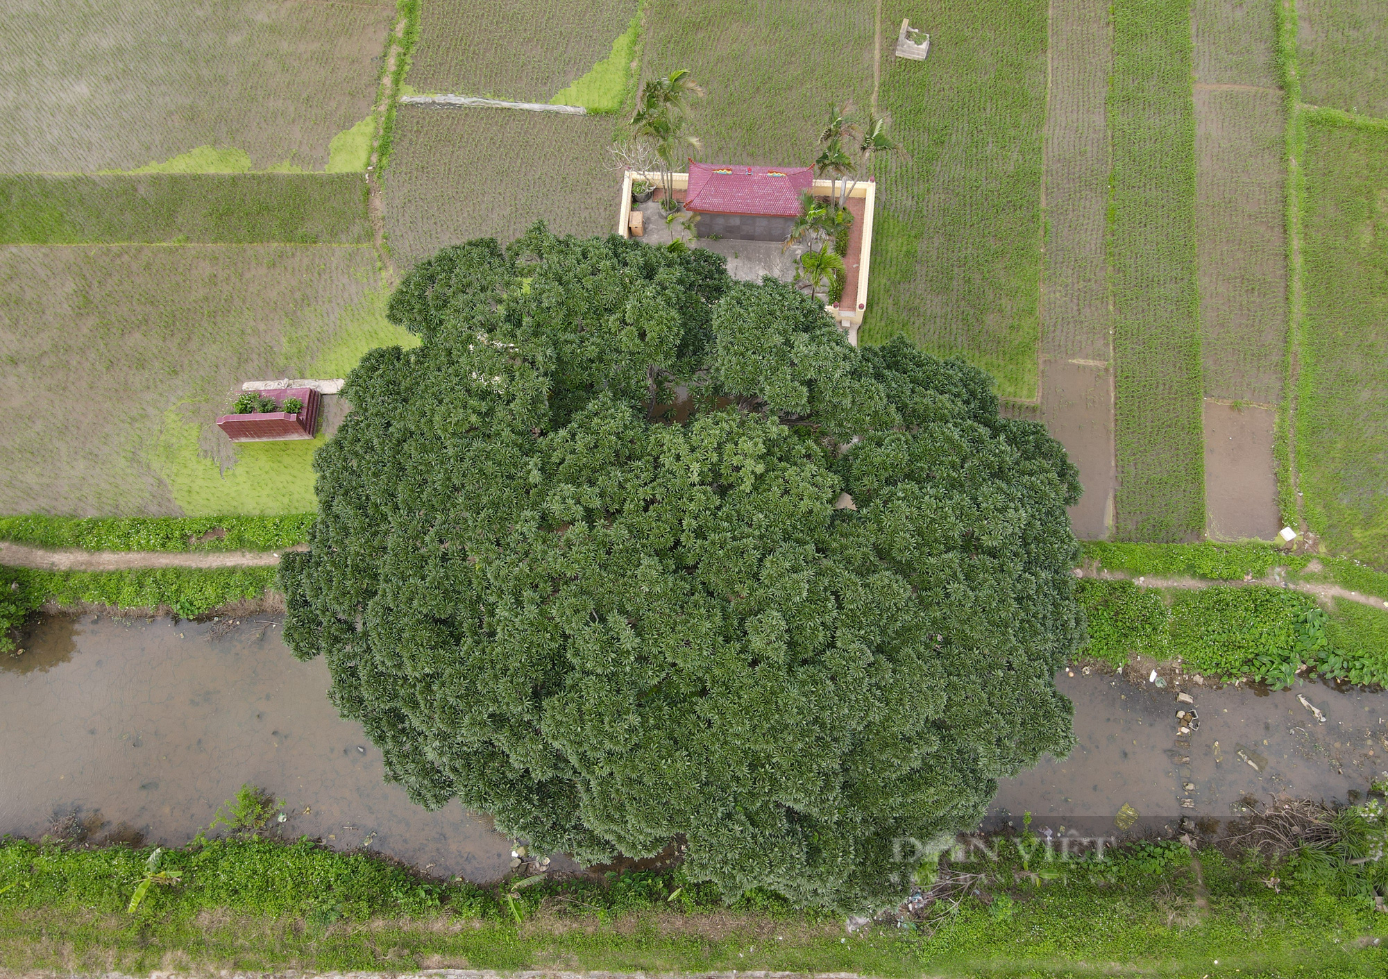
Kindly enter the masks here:
<path id="1" fill-rule="evenodd" d="M 390 0 L 14 0 L 0 172 L 129 171 L 212 147 L 323 171 L 371 115 Z"/>

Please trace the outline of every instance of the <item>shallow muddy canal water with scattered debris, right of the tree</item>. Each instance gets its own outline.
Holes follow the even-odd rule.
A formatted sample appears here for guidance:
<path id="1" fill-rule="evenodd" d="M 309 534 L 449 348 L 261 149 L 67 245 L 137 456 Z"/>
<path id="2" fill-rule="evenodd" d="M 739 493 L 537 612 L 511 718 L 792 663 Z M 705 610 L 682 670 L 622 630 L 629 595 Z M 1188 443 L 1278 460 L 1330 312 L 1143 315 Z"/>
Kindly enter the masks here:
<path id="1" fill-rule="evenodd" d="M 1178 832 L 1184 817 L 1208 836 L 1244 815 L 1248 797 L 1346 803 L 1388 777 L 1388 692 L 1314 682 L 1216 691 L 1187 682 L 1181 689 L 1195 702 L 1188 704 L 1171 686 L 1083 670 L 1062 671 L 1056 686 L 1074 703 L 1077 745 L 1067 759 L 1045 757 L 1002 779 L 988 829 L 1020 826 L 1030 811 L 1033 829 L 1058 833 Z M 1194 710 L 1194 729 L 1178 710 Z"/>

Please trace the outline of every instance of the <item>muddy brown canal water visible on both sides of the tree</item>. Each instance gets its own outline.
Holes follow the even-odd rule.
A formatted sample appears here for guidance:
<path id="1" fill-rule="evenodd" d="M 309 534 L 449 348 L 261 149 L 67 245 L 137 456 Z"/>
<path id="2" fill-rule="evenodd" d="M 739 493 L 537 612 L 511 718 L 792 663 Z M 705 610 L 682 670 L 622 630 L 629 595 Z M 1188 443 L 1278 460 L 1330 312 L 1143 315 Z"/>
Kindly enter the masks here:
<path id="1" fill-rule="evenodd" d="M 285 838 L 366 847 L 440 876 L 502 876 L 509 840 L 457 803 L 429 813 L 386 785 L 380 754 L 337 717 L 328 685 L 323 661 L 290 656 L 272 616 L 230 628 L 49 618 L 22 656 L 0 656 L 0 833 L 36 838 L 76 814 L 94 840 L 179 844 L 251 782 L 285 800 Z M 1388 771 L 1388 693 L 1188 682 L 1187 704 L 1141 678 L 1074 670 L 1058 685 L 1074 702 L 1078 745 L 1005 779 L 990 828 L 1030 811 L 1034 829 L 1053 832 L 1176 832 L 1188 817 L 1210 833 L 1246 796 L 1346 802 Z M 1181 734 L 1176 711 L 1192 707 L 1198 721 Z"/>

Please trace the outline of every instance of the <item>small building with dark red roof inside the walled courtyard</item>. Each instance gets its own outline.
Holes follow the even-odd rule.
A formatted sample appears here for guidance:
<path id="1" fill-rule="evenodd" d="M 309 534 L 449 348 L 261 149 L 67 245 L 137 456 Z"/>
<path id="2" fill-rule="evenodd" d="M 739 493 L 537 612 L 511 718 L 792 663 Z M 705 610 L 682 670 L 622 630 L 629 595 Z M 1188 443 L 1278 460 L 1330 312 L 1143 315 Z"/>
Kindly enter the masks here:
<path id="1" fill-rule="evenodd" d="M 702 215 L 698 236 L 784 241 L 799 197 L 815 182 L 809 166 L 716 166 L 690 161 L 684 208 Z"/>

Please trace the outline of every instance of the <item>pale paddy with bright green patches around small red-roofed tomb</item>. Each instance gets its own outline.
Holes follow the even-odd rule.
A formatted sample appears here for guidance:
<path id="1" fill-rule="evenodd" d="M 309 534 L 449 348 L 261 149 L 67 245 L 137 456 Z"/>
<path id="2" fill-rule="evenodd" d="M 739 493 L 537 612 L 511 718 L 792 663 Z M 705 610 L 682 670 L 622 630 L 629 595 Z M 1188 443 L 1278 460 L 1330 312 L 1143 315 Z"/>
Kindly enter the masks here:
<path id="1" fill-rule="evenodd" d="M 240 381 L 340 377 L 384 322 L 371 247 L 0 248 L 0 512 L 314 509 L 314 442 L 232 445 Z"/>

